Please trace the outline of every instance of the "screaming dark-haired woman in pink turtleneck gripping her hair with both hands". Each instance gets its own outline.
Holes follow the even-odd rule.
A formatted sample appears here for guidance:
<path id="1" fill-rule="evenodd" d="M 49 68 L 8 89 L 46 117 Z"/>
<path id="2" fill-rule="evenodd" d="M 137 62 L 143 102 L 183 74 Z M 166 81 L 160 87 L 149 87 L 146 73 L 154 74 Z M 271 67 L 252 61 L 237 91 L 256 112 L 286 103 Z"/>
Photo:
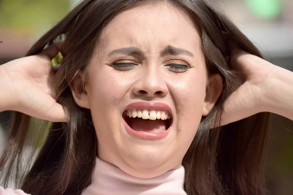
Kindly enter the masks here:
<path id="1" fill-rule="evenodd" d="M 265 194 L 268 112 L 293 119 L 292 78 L 204 0 L 84 0 L 27 57 L 0 66 L 0 110 L 16 111 L 0 159 L 3 187 Z M 54 123 L 46 132 L 29 116 Z M 46 136 L 40 151 L 38 134 Z M 26 137 L 36 140 L 35 160 L 23 153 Z"/>

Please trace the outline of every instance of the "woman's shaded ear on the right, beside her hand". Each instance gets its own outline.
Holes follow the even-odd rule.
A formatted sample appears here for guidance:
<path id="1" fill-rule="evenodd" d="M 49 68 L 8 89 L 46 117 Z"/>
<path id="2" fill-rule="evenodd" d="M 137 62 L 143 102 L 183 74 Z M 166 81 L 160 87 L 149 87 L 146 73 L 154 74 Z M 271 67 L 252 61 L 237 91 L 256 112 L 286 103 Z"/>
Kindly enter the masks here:
<path id="1" fill-rule="evenodd" d="M 206 98 L 203 108 L 203 116 L 207 116 L 214 107 L 216 101 L 220 97 L 223 88 L 223 80 L 220 74 L 212 74 L 209 76 L 208 86 L 206 90 Z"/>

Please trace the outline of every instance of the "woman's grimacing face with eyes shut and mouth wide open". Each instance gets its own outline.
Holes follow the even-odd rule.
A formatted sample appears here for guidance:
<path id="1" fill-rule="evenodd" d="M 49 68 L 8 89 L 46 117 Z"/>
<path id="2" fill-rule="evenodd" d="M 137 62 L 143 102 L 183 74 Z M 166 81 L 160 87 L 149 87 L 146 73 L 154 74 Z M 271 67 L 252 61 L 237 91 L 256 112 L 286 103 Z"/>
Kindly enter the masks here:
<path id="1" fill-rule="evenodd" d="M 207 82 L 192 20 L 156 3 L 125 11 L 105 27 L 86 93 L 74 97 L 91 110 L 99 157 L 147 178 L 180 167 L 212 107 L 205 101 Z"/>

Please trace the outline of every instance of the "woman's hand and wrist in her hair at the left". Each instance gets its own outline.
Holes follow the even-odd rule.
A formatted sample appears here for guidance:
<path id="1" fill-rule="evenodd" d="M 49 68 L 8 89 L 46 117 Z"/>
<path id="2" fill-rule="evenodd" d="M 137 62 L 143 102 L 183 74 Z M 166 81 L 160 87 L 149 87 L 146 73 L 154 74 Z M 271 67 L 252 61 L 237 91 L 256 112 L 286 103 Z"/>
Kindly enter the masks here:
<path id="1" fill-rule="evenodd" d="M 13 110 L 53 122 L 66 122 L 56 102 L 55 73 L 51 65 L 63 42 L 42 53 L 0 65 L 0 111 Z"/>

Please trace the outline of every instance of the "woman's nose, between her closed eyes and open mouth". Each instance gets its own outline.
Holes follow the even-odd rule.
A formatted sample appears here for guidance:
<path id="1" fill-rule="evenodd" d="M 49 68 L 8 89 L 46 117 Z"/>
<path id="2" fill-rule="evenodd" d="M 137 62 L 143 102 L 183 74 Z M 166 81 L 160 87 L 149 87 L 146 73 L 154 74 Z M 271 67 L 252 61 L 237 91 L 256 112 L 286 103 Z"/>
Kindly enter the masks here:
<path id="1" fill-rule="evenodd" d="M 133 94 L 146 98 L 163 98 L 168 88 L 158 69 L 142 70 L 140 78 L 133 87 Z"/>

